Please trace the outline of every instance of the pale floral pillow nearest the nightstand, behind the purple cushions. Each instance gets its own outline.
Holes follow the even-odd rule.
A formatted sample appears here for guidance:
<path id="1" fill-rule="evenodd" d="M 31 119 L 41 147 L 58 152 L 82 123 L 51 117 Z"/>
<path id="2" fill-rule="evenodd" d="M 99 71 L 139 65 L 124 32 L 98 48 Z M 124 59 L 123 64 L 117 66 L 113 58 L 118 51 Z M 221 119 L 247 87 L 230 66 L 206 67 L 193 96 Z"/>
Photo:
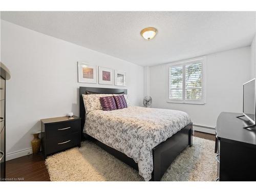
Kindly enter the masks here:
<path id="1" fill-rule="evenodd" d="M 90 111 L 102 110 L 100 103 L 100 97 L 112 96 L 112 94 L 89 94 L 82 95 L 84 107 L 86 108 L 86 114 Z"/>

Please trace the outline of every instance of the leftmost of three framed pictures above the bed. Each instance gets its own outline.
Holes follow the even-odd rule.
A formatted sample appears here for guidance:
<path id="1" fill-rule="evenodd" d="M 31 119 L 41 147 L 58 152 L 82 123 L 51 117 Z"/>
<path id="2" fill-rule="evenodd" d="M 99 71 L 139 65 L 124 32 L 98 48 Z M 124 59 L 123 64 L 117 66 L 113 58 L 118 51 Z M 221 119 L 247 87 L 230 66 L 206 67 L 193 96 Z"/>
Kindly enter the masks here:
<path id="1" fill-rule="evenodd" d="M 77 62 L 78 82 L 97 83 L 97 66 L 86 62 Z"/>

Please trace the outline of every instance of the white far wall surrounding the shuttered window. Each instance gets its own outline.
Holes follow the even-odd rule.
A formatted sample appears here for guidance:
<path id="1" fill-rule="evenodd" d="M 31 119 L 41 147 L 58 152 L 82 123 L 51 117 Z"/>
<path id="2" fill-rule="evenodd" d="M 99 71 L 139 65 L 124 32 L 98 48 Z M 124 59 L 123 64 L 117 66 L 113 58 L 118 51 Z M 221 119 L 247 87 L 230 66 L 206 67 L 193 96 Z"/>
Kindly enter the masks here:
<path id="1" fill-rule="evenodd" d="M 150 68 L 154 108 L 181 110 L 194 124 L 215 127 L 220 112 L 242 112 L 243 83 L 250 79 L 250 47 L 206 55 L 206 104 L 167 103 L 166 66 Z"/>

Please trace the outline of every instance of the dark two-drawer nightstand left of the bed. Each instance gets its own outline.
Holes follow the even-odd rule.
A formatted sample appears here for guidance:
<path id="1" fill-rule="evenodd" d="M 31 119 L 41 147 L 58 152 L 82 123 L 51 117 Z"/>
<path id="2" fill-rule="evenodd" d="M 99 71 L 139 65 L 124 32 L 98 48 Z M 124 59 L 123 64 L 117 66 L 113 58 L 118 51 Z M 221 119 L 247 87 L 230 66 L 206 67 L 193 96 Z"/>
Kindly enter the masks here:
<path id="1" fill-rule="evenodd" d="M 80 145 L 81 118 L 74 116 L 41 119 L 41 142 L 45 158 Z"/>

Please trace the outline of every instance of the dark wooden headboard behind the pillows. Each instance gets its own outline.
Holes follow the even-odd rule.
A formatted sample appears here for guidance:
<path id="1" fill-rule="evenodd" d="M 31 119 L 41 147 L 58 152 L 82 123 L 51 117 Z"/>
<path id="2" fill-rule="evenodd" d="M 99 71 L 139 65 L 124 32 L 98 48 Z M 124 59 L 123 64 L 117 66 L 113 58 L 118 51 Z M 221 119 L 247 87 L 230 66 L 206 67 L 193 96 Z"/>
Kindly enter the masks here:
<path id="1" fill-rule="evenodd" d="M 111 89 L 111 88 L 91 88 L 91 87 L 79 87 L 79 112 L 81 118 L 81 140 L 83 140 L 83 126 L 86 122 L 86 109 L 84 108 L 82 95 L 88 94 L 127 94 L 126 89 Z"/>

